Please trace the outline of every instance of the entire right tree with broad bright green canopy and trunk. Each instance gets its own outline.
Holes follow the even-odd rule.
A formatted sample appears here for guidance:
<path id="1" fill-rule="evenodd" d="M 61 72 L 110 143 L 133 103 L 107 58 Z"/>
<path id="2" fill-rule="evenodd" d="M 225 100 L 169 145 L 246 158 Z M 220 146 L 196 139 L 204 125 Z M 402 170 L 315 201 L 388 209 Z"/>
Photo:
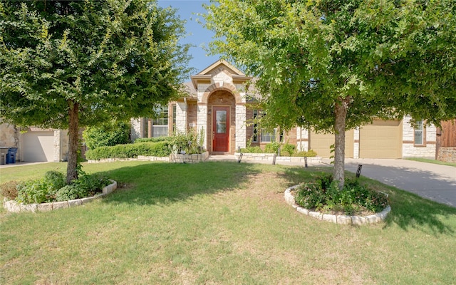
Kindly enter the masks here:
<path id="1" fill-rule="evenodd" d="M 439 124 L 456 115 L 453 0 L 219 0 L 207 28 L 222 53 L 257 76 L 266 124 L 335 135 L 344 183 L 345 131 L 373 118 Z"/>

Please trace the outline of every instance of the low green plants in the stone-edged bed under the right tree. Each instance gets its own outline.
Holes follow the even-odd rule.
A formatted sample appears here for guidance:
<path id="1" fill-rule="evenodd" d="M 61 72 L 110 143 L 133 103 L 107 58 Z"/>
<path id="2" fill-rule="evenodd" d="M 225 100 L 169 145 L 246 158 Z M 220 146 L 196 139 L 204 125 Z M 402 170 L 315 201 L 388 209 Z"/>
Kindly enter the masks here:
<path id="1" fill-rule="evenodd" d="M 295 200 L 306 209 L 348 215 L 381 212 L 388 205 L 385 194 L 361 185 L 358 180 L 346 180 L 343 190 L 339 190 L 332 175 L 321 175 L 314 182 L 299 186 Z"/>

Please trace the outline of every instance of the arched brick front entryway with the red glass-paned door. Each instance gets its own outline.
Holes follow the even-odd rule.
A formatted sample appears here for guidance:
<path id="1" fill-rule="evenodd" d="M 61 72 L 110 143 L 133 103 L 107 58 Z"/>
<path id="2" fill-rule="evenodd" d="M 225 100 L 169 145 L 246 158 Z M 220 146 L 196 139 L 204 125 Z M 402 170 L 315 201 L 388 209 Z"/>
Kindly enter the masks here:
<path id="1" fill-rule="evenodd" d="M 207 99 L 207 145 L 212 154 L 234 153 L 236 99 L 229 90 L 214 90 Z"/>

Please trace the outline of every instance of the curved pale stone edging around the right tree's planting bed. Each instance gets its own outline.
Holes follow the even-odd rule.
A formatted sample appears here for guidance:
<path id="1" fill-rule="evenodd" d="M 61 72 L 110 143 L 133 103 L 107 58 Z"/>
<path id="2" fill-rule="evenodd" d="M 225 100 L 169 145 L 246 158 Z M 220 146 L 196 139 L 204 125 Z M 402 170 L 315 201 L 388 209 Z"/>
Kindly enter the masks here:
<path id="1" fill-rule="evenodd" d="M 378 222 L 383 222 L 388 215 L 388 213 L 391 211 L 391 207 L 388 205 L 383 209 L 382 212 L 376 213 L 376 214 L 371 214 L 366 217 L 361 217 L 361 216 L 347 216 L 347 215 L 335 215 L 335 214 L 323 214 L 321 212 L 313 212 L 309 209 L 305 209 L 299 204 L 296 204 L 296 200 L 294 199 L 294 196 L 291 195 L 291 190 L 294 190 L 296 187 L 299 187 L 299 185 L 294 185 L 289 188 L 286 188 L 285 190 L 285 200 L 288 204 L 290 204 L 292 207 L 296 209 L 296 211 L 306 214 L 310 217 L 314 217 L 315 219 L 321 219 L 326 222 L 333 222 L 335 224 L 354 224 L 361 226 L 363 224 L 375 224 Z M 388 197 L 388 194 L 383 193 Z"/>

